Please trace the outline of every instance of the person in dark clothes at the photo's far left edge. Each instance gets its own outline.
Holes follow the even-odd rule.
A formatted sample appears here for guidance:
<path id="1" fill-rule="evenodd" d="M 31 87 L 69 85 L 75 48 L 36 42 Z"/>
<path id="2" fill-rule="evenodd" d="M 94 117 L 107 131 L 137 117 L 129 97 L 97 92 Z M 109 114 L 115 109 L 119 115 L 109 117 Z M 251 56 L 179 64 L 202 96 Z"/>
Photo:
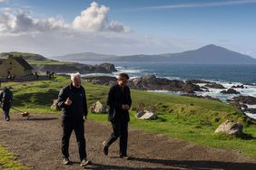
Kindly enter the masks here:
<path id="1" fill-rule="evenodd" d="M 5 87 L 4 90 L 0 92 L 0 101 L 1 101 L 1 106 L 4 111 L 6 121 L 10 120 L 9 112 L 11 109 L 12 100 L 13 100 L 13 92 L 9 88 Z"/>

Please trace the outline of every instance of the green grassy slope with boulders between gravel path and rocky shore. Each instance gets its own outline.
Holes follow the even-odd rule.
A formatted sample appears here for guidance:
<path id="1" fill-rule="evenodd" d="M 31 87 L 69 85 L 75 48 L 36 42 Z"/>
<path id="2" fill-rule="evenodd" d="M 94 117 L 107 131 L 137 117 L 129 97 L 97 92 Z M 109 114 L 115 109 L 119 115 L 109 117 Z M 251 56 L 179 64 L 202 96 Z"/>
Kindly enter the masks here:
<path id="1" fill-rule="evenodd" d="M 60 112 L 50 109 L 50 106 L 52 100 L 57 98 L 59 90 L 67 83 L 69 83 L 67 77 L 57 77 L 54 80 L 27 83 L 3 83 L 3 86 L 13 86 L 14 107 L 17 109 L 30 113 L 60 114 Z M 85 82 L 83 85 L 88 105 L 97 100 L 105 104 L 109 87 Z M 204 146 L 231 149 L 246 156 L 256 157 L 256 141 L 248 139 L 248 137 L 256 137 L 256 125 L 231 105 L 207 99 L 193 99 L 141 90 L 132 90 L 132 98 L 133 110 L 139 108 L 142 101 L 146 108 L 158 110 L 158 119 L 151 121 L 135 119 L 133 117 L 135 111 L 132 110 L 130 123 L 132 127 Z M 106 115 L 89 114 L 89 118 L 107 123 Z M 243 123 L 246 135 L 236 138 L 214 134 L 214 129 L 226 119 Z"/>

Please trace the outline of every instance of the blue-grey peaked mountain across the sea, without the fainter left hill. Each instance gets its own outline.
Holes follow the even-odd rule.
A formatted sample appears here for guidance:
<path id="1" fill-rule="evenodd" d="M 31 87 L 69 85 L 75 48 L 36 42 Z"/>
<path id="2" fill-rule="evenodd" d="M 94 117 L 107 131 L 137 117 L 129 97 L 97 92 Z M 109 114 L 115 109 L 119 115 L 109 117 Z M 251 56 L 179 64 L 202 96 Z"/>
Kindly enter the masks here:
<path id="1" fill-rule="evenodd" d="M 123 56 L 114 61 L 167 61 L 173 63 L 255 63 L 256 59 L 239 52 L 232 52 L 217 45 L 206 45 L 200 49 L 187 52 L 165 53 L 157 55 L 132 55 Z"/>

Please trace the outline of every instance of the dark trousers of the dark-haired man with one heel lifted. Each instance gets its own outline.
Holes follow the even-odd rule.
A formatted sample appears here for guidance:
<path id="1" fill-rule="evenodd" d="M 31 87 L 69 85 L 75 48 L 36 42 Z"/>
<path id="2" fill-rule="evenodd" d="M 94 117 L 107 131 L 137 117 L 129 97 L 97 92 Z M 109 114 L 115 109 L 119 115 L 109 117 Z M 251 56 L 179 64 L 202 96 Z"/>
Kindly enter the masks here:
<path id="1" fill-rule="evenodd" d="M 124 118 L 112 122 L 113 133 L 105 141 L 107 147 L 111 146 L 113 142 L 120 137 L 119 148 L 120 155 L 127 156 L 127 140 L 128 140 L 128 121 Z"/>

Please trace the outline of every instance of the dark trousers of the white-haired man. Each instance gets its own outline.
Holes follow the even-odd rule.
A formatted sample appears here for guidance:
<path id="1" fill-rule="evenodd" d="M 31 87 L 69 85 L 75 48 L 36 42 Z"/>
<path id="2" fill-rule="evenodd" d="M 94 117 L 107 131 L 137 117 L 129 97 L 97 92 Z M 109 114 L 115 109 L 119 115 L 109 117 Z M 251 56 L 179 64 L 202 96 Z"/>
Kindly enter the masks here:
<path id="1" fill-rule="evenodd" d="M 69 157 L 68 147 L 69 147 L 69 139 L 74 130 L 74 134 L 76 137 L 76 141 L 78 144 L 79 156 L 82 161 L 86 158 L 86 149 L 85 149 L 85 138 L 84 138 L 84 119 L 80 120 L 70 120 L 63 119 L 63 137 L 62 137 L 62 153 L 65 158 Z"/>

